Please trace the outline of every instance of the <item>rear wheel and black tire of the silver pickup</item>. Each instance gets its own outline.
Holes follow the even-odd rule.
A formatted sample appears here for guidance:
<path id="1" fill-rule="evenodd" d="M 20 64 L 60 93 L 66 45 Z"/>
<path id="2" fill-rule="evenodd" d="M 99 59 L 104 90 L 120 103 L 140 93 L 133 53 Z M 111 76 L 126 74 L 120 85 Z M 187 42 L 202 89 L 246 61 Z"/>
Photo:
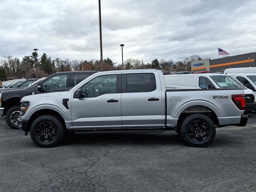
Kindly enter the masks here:
<path id="1" fill-rule="evenodd" d="M 194 147 L 204 147 L 215 137 L 216 128 L 212 120 L 200 113 L 187 116 L 180 126 L 182 140 Z"/>

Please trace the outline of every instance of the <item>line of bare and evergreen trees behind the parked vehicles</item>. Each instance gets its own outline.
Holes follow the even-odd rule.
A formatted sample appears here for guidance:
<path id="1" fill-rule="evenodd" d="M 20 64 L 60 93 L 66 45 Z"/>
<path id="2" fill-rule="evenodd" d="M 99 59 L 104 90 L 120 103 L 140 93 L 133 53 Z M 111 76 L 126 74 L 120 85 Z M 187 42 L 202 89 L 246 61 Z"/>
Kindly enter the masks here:
<path id="1" fill-rule="evenodd" d="M 191 62 L 195 60 L 202 60 L 199 55 L 191 55 L 184 60 L 176 61 L 169 59 L 154 59 L 150 62 L 144 63 L 143 60 L 128 58 L 124 61 L 124 69 L 148 69 L 161 68 L 165 71 L 185 71 L 191 70 Z M 41 57 L 37 52 L 32 52 L 31 55 L 24 56 L 20 61 L 19 58 L 13 56 L 4 56 L 0 59 L 0 78 L 30 78 L 34 73 L 37 77 L 48 76 L 55 72 L 64 71 L 81 71 L 81 70 L 99 70 L 100 60 L 82 60 L 69 58 L 52 59 L 46 53 Z M 102 70 L 122 70 L 122 64 L 114 65 L 110 58 L 106 58 L 102 62 Z"/>

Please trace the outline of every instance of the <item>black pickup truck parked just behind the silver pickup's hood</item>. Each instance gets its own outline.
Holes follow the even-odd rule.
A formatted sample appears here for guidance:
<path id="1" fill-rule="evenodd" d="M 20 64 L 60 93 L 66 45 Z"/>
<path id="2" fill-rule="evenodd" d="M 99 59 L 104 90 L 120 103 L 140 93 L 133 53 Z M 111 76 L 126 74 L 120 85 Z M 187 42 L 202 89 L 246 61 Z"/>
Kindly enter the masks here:
<path id="1" fill-rule="evenodd" d="M 32 84 L 32 86 L 5 90 L 0 94 L 0 115 L 6 116 L 8 126 L 18 129 L 20 100 L 22 97 L 46 92 L 66 91 L 94 73 L 96 71 L 58 72 L 36 84 Z M 40 86 L 38 87 L 38 85 Z"/>

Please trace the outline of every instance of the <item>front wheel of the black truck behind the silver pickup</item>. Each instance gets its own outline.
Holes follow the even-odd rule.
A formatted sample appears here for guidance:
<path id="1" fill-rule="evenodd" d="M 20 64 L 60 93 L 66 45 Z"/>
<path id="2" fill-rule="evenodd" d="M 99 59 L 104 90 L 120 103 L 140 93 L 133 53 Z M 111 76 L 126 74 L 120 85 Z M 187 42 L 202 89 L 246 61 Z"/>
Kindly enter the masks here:
<path id="1" fill-rule="evenodd" d="M 20 115 L 20 105 L 16 105 L 7 110 L 5 120 L 8 126 L 12 129 L 18 128 L 18 117 Z"/>

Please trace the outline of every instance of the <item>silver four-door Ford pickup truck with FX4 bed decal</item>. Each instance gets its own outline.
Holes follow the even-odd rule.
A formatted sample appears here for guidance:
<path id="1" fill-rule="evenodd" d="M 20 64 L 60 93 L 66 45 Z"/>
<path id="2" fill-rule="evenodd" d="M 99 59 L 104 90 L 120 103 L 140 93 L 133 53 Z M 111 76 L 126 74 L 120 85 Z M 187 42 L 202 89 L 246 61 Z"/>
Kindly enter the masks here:
<path id="1" fill-rule="evenodd" d="M 175 130 L 203 147 L 216 127 L 245 126 L 242 88 L 166 90 L 161 70 L 93 74 L 69 91 L 25 96 L 18 127 L 35 144 L 53 147 L 66 132 L 130 133 Z"/>

